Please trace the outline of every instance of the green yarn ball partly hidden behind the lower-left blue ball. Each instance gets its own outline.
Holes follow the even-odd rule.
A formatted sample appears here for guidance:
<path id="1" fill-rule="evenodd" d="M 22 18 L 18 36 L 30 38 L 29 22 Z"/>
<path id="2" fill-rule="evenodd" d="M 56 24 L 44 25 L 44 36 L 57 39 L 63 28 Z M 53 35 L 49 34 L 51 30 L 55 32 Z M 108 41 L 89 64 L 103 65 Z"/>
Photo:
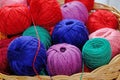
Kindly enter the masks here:
<path id="1" fill-rule="evenodd" d="M 40 41 L 44 44 L 46 49 L 48 49 L 51 46 L 51 36 L 50 36 L 49 32 L 40 26 L 36 26 L 36 29 L 37 29 Z M 26 29 L 23 32 L 23 36 L 37 37 L 34 26 L 31 26 L 28 29 Z"/>

